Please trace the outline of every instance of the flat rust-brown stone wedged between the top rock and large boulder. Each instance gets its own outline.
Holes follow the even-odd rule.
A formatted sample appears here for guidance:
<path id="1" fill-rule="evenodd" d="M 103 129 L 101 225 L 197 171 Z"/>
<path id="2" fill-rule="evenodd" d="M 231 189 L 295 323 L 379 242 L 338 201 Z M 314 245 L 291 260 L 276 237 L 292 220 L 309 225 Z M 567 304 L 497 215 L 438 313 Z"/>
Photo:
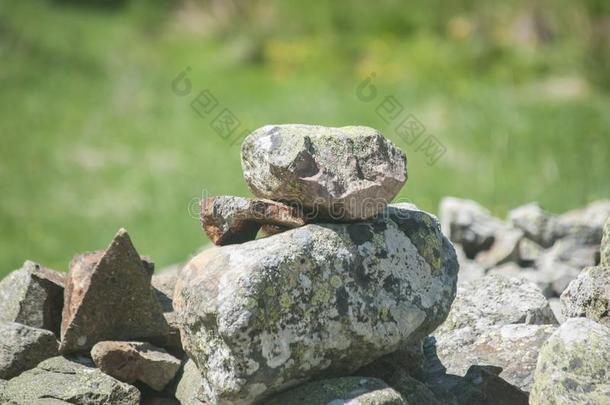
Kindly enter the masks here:
<path id="1" fill-rule="evenodd" d="M 220 196 L 201 201 L 201 224 L 220 246 L 253 240 L 264 225 L 296 228 L 305 220 L 298 209 L 277 201 Z"/>

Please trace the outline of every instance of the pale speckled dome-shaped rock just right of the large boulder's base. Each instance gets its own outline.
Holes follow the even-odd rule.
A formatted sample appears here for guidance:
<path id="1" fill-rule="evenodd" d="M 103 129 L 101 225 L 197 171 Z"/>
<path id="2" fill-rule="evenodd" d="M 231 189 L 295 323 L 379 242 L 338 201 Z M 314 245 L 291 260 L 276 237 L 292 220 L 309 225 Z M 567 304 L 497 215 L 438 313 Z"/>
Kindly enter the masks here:
<path id="1" fill-rule="evenodd" d="M 458 287 L 451 311 L 435 335 L 491 325 L 557 324 L 553 311 L 536 285 L 522 279 L 487 275 Z"/>

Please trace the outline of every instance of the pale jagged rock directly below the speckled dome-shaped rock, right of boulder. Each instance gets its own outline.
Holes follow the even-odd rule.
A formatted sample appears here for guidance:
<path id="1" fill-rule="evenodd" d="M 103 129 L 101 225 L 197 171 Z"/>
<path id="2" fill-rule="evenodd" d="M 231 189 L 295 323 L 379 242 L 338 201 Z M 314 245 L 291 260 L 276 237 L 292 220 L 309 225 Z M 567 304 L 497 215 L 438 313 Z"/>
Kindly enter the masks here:
<path id="1" fill-rule="evenodd" d="M 497 366 L 505 381 L 529 391 L 538 351 L 556 329 L 556 325 L 495 325 L 477 333 L 462 328 L 426 344 L 435 346 L 448 374 L 463 376 L 471 365 Z"/>

